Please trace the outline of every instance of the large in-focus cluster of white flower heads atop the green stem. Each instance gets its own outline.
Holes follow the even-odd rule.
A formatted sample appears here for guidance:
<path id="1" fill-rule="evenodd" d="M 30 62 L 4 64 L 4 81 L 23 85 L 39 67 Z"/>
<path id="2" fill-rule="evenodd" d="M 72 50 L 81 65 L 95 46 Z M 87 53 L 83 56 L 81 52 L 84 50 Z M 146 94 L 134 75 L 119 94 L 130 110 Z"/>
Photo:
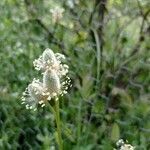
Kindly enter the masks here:
<path id="1" fill-rule="evenodd" d="M 51 99 L 58 100 L 59 96 L 67 93 L 71 85 L 67 76 L 68 65 L 64 63 L 65 56 L 46 49 L 33 64 L 36 70 L 40 70 L 43 80 L 33 79 L 22 96 L 22 104 L 27 109 L 37 109 L 37 105 L 44 107 Z"/>

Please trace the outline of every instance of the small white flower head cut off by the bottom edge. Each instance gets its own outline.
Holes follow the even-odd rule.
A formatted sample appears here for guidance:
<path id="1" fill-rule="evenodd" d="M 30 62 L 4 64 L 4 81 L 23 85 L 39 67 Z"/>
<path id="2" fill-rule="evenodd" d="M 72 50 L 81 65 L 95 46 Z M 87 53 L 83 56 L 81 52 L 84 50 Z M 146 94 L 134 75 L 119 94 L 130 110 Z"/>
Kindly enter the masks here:
<path id="1" fill-rule="evenodd" d="M 120 139 L 119 141 L 117 141 L 116 145 L 118 147 L 118 150 L 134 150 L 135 149 L 134 146 L 128 143 L 125 143 L 123 139 Z"/>

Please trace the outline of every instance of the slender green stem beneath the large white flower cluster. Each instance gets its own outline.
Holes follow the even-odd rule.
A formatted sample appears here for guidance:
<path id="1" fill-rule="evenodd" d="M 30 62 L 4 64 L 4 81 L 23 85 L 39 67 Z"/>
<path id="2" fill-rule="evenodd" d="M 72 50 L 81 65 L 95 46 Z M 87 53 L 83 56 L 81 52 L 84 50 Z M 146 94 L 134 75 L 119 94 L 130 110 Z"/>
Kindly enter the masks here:
<path id="1" fill-rule="evenodd" d="M 55 119 L 57 125 L 59 150 L 63 150 L 63 141 L 61 137 L 61 122 L 60 122 L 60 114 L 59 114 L 59 100 L 55 101 Z"/>

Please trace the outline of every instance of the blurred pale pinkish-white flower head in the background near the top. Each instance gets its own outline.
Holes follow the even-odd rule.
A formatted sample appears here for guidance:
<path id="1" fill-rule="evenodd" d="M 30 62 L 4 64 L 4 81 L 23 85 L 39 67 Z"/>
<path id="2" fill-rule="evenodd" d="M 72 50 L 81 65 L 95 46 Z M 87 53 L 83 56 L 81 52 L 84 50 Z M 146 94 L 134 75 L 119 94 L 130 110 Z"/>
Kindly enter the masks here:
<path id="1" fill-rule="evenodd" d="M 52 13 L 52 22 L 58 23 L 63 17 L 64 9 L 59 6 L 56 6 L 55 8 L 50 9 L 50 12 Z"/>

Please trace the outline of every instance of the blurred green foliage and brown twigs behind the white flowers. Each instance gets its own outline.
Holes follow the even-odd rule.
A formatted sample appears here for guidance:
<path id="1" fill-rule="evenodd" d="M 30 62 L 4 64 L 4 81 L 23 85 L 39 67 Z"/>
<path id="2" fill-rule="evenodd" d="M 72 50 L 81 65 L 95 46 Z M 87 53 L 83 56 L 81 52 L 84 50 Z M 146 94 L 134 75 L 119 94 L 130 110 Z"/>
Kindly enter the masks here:
<path id="1" fill-rule="evenodd" d="M 54 24 L 50 9 L 64 8 Z M 0 149 L 57 150 L 54 116 L 21 95 L 46 48 L 67 56 L 64 150 L 150 149 L 149 0 L 0 0 Z"/>

